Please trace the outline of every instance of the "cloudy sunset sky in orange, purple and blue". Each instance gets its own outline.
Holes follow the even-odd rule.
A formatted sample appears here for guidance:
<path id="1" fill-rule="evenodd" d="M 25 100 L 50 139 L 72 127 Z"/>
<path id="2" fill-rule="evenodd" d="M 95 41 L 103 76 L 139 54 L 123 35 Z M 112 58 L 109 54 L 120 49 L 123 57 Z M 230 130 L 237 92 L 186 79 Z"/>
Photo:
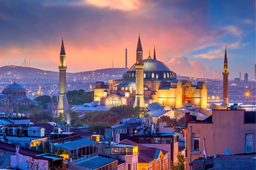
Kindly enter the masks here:
<path id="1" fill-rule="evenodd" d="M 114 67 L 125 67 L 125 48 L 131 67 L 140 32 L 143 59 L 155 45 L 157 59 L 177 74 L 221 79 L 227 45 L 229 79 L 239 71 L 254 77 L 255 1 L 0 4 L 2 65 L 19 66 L 26 57 L 31 67 L 57 71 L 63 36 L 67 72 L 109 68 L 112 58 Z"/>

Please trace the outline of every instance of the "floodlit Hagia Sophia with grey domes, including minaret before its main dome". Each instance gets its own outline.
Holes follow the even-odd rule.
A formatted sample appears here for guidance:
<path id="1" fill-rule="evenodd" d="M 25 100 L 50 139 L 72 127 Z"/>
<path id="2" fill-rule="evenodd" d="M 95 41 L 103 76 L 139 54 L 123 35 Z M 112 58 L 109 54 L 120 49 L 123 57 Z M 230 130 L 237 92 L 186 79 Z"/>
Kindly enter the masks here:
<path id="1" fill-rule="evenodd" d="M 207 108 L 205 81 L 198 81 L 196 85 L 192 85 L 190 80 L 177 80 L 177 74 L 156 59 L 155 48 L 153 58 L 149 53 L 147 59 L 142 60 L 142 54 L 139 36 L 136 63 L 121 79 L 109 80 L 108 83 L 96 82 L 94 101 L 100 101 L 100 105 L 106 106 L 145 106 L 157 102 L 171 108 L 182 108 L 183 103 Z"/>

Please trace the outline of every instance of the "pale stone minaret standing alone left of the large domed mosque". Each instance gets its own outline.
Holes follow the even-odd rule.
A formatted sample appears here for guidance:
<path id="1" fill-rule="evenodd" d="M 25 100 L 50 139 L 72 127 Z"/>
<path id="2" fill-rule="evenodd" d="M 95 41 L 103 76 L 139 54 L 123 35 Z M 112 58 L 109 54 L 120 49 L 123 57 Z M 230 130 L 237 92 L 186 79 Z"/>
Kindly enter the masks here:
<path id="1" fill-rule="evenodd" d="M 63 38 L 61 42 L 61 48 L 60 48 L 60 91 L 59 91 L 59 103 L 58 103 L 58 113 L 63 112 L 64 110 L 68 110 L 68 99 L 66 95 L 66 90 L 67 90 L 67 77 L 66 77 L 66 53 L 65 53 L 65 48 L 64 48 L 64 43 L 63 43 Z"/>

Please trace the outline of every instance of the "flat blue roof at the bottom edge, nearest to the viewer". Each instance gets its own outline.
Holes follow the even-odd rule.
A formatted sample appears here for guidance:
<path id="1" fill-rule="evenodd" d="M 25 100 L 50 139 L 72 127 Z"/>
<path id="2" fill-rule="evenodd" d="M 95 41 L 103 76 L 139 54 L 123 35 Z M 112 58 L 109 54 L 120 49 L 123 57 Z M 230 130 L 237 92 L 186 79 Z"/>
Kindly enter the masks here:
<path id="1" fill-rule="evenodd" d="M 84 168 L 89 168 L 89 169 L 97 169 L 100 168 L 104 165 L 108 165 L 112 162 L 117 161 L 116 159 L 111 159 L 111 158 L 106 158 L 106 157 L 102 157 L 102 156 L 96 156 L 96 157 L 92 157 L 91 159 L 88 159 L 84 162 L 78 163 L 75 166 L 82 166 Z"/>

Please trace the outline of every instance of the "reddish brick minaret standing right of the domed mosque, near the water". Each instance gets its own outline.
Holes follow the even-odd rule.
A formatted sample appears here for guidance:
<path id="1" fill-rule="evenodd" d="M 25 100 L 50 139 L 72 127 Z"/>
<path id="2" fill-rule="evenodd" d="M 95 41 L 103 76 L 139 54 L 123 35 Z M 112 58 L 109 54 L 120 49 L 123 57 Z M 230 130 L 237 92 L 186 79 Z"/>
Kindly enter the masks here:
<path id="1" fill-rule="evenodd" d="M 228 57 L 227 57 L 227 47 L 225 47 L 225 57 L 224 57 L 224 70 L 223 74 L 223 102 L 221 106 L 228 107 Z"/>

